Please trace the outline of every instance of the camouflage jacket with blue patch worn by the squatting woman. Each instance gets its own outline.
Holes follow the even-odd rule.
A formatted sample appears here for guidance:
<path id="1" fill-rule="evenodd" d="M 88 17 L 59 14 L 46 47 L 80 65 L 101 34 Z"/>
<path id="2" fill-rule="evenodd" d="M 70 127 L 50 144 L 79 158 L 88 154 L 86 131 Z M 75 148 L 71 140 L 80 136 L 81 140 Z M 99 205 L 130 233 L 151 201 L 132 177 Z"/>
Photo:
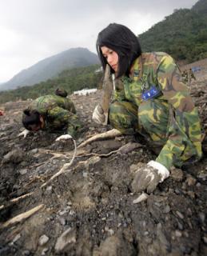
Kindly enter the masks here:
<path id="1" fill-rule="evenodd" d="M 177 156 L 185 162 L 189 158 L 186 148 L 191 146 L 194 149 L 192 155 L 201 158 L 201 123 L 197 108 L 173 58 L 165 53 L 141 54 L 133 63 L 129 78 L 124 77 L 122 81 L 122 87 L 119 86 L 114 92 L 115 100 L 133 102 L 138 107 L 143 101 L 143 91 L 155 86 L 160 91 L 155 98 L 167 103 L 173 110 L 173 122 L 157 162 L 167 168 L 173 166 L 173 159 Z"/>

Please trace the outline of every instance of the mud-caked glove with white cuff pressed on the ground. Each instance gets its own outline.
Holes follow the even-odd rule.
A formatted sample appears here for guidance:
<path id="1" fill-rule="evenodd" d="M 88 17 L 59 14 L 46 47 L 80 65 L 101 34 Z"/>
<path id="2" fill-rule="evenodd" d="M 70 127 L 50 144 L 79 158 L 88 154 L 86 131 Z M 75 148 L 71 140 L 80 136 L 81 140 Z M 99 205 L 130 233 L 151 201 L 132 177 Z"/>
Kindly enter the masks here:
<path id="1" fill-rule="evenodd" d="M 163 182 L 169 177 L 169 170 L 159 162 L 150 161 L 144 167 L 138 169 L 132 182 L 133 192 L 141 192 L 147 190 L 152 193 L 156 189 L 159 182 Z"/>

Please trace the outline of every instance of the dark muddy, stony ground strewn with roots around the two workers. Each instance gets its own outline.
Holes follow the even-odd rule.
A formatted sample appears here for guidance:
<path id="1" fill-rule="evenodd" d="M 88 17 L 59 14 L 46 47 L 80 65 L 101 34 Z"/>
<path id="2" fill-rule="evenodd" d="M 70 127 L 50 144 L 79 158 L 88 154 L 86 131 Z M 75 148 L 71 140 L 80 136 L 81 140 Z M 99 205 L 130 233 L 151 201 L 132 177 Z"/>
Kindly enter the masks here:
<path id="1" fill-rule="evenodd" d="M 193 82 L 191 93 L 206 129 L 207 80 Z M 78 144 L 111 129 L 91 120 L 100 97 L 100 91 L 71 96 L 85 123 Z M 42 131 L 17 138 L 28 104 L 0 106 L 0 255 L 207 255 L 206 147 L 200 162 L 172 169 L 153 194 L 134 203 L 140 194 L 131 193 L 133 165 L 155 159 L 152 149 L 118 150 L 134 146 L 133 136 L 93 142 L 50 182 L 70 162 L 74 145 Z M 32 209 L 30 217 L 12 219 Z"/>

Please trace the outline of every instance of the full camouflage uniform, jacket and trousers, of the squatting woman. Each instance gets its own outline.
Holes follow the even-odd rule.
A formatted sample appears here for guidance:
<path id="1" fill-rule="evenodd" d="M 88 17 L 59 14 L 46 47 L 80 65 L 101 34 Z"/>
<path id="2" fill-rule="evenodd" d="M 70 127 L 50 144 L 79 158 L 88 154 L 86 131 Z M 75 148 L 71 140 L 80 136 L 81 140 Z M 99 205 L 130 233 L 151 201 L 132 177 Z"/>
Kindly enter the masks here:
<path id="1" fill-rule="evenodd" d="M 141 54 L 129 78 L 121 80 L 109 108 L 113 127 L 123 134 L 138 132 L 161 146 L 156 161 L 168 169 L 201 158 L 197 108 L 173 58 L 165 53 Z M 146 99 L 146 94 L 151 98 Z"/>

